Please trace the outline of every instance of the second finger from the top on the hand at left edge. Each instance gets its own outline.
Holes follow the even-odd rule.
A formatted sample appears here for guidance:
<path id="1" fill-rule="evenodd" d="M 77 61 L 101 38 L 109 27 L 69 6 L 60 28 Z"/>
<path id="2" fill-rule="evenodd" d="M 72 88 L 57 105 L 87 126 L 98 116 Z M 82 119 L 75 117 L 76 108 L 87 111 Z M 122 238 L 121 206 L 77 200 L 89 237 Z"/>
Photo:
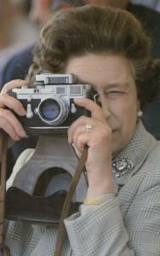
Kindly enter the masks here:
<path id="1" fill-rule="evenodd" d="M 8 107 L 21 116 L 26 114 L 26 110 L 23 108 L 22 103 L 8 94 L 0 94 L 0 108 L 3 107 Z"/>

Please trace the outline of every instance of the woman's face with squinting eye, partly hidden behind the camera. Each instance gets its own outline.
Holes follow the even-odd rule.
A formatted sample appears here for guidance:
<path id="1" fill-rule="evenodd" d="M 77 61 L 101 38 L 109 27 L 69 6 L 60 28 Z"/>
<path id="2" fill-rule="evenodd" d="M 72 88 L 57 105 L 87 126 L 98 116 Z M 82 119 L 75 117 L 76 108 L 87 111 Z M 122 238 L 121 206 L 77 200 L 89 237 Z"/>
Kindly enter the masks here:
<path id="1" fill-rule="evenodd" d="M 134 134 L 137 110 L 134 67 L 123 55 L 89 54 L 71 58 L 66 73 L 99 92 L 106 122 L 112 131 L 112 152 L 121 150 Z"/>

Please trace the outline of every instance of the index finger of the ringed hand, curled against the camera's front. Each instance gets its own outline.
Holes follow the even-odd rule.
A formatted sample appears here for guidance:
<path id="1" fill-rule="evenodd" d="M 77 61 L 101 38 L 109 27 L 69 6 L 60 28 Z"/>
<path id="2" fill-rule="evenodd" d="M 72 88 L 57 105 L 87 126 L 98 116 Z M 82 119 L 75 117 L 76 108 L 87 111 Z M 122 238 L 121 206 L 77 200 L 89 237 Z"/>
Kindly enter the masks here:
<path id="1" fill-rule="evenodd" d="M 105 119 L 105 115 L 102 112 L 102 109 L 100 108 L 100 106 L 98 106 L 95 102 L 89 100 L 88 98 L 76 98 L 74 99 L 74 102 L 78 106 L 88 109 L 91 112 L 91 116 L 94 119 L 99 119 L 99 120 Z"/>

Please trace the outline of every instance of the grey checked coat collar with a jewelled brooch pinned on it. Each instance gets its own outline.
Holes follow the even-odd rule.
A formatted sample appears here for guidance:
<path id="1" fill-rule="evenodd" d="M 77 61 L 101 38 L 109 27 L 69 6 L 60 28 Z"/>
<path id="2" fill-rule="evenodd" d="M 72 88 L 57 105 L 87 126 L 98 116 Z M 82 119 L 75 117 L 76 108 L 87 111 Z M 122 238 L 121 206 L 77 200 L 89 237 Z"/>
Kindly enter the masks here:
<path id="1" fill-rule="evenodd" d="M 112 159 L 112 173 L 117 184 L 125 184 L 134 176 L 146 160 L 157 141 L 146 131 L 141 120 L 136 125 L 134 136 L 122 151 L 114 154 Z"/>

